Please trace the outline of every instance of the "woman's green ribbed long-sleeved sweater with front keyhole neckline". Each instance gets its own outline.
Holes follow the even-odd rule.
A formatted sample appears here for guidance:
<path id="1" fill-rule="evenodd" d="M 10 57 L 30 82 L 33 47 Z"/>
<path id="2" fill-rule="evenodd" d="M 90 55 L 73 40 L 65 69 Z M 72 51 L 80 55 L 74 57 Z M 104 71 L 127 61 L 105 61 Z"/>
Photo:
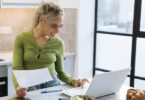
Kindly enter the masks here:
<path id="1" fill-rule="evenodd" d="M 37 56 L 40 52 L 40 58 Z M 32 70 L 48 67 L 52 76 L 58 76 L 63 82 L 74 86 L 75 79 L 64 72 L 63 69 L 64 43 L 58 37 L 51 38 L 42 48 L 34 39 L 33 31 L 19 34 L 14 43 L 13 70 Z M 39 76 L 38 76 L 39 78 Z M 12 73 L 15 88 L 19 84 Z"/>

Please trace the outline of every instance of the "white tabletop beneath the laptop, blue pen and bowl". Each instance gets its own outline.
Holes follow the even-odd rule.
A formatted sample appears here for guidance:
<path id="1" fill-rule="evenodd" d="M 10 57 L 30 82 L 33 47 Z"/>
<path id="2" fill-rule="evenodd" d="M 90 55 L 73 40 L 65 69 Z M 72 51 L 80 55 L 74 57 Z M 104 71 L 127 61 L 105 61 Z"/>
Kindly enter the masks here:
<path id="1" fill-rule="evenodd" d="M 55 89 L 57 89 L 57 88 L 68 89 L 71 87 L 68 85 L 62 85 L 62 86 L 55 87 Z M 51 89 L 54 89 L 54 88 L 52 87 Z M 127 100 L 126 99 L 127 89 L 129 89 L 129 87 L 123 85 L 119 92 L 112 94 L 112 95 L 96 98 L 96 100 Z M 48 89 L 46 88 L 46 89 L 28 92 L 28 94 L 25 98 L 11 99 L 15 96 L 6 96 L 3 98 L 0 98 L 0 100 L 58 100 L 59 98 L 68 98 L 67 96 L 61 94 L 60 92 L 41 94 L 41 91 L 44 91 L 44 90 L 48 90 Z M 68 98 L 68 100 L 69 100 L 69 98 Z"/>

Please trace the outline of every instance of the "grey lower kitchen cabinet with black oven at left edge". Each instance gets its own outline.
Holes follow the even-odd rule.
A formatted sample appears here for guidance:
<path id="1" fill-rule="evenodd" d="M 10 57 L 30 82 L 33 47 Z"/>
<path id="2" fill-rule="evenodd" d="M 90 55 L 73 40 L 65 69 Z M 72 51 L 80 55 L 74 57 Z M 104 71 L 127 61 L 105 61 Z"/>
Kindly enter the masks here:
<path id="1" fill-rule="evenodd" d="M 11 74 L 12 62 L 0 61 L 0 97 L 15 94 Z"/>

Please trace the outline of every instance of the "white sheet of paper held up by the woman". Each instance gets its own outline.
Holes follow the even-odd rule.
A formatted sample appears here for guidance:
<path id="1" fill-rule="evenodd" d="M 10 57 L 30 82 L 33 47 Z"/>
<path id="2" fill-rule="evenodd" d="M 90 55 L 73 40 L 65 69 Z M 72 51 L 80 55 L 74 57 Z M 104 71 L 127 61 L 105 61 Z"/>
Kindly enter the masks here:
<path id="1" fill-rule="evenodd" d="M 48 68 L 35 70 L 13 70 L 20 87 L 28 88 L 53 80 Z"/>

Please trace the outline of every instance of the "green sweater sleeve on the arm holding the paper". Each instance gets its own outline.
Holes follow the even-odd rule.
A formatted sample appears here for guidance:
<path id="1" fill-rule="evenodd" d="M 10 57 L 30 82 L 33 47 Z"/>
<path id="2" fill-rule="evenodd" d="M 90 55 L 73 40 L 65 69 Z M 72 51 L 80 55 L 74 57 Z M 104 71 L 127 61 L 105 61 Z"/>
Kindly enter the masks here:
<path id="1" fill-rule="evenodd" d="M 22 35 L 18 35 L 14 42 L 14 51 L 13 51 L 13 68 L 12 70 L 22 70 L 23 69 L 23 39 Z M 12 73 L 12 80 L 15 89 L 19 87 L 19 84 Z"/>

